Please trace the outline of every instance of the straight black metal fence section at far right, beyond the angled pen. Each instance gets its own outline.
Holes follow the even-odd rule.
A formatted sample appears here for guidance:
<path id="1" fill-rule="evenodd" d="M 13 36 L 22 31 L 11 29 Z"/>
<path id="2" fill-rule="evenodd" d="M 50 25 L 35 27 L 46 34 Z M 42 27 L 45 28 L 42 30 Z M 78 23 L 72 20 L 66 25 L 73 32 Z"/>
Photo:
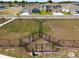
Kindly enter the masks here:
<path id="1" fill-rule="evenodd" d="M 59 40 L 59 47 L 79 48 L 79 40 Z"/>

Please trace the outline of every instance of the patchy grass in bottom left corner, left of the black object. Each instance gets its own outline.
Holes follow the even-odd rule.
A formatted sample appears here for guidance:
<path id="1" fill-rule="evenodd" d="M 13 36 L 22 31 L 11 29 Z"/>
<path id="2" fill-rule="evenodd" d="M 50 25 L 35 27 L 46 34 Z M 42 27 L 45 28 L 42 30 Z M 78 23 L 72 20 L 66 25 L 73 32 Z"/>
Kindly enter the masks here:
<path id="1" fill-rule="evenodd" d="M 16 58 L 26 58 L 32 57 L 23 51 L 23 48 L 0 48 L 0 54 L 16 57 Z"/>

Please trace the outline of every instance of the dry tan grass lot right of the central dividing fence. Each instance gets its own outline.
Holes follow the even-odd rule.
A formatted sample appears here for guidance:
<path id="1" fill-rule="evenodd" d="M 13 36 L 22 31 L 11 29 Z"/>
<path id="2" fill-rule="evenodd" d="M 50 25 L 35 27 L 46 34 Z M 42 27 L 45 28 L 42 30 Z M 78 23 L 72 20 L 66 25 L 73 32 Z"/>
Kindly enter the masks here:
<path id="1" fill-rule="evenodd" d="M 79 19 L 50 20 L 44 23 L 52 29 L 50 35 L 64 40 L 79 40 Z"/>

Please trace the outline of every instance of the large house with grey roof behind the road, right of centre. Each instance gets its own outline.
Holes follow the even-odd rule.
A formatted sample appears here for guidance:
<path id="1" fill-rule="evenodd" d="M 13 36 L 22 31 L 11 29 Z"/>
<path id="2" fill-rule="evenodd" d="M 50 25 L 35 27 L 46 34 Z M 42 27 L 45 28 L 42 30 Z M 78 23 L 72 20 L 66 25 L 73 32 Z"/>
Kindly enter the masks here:
<path id="1" fill-rule="evenodd" d="M 44 11 L 59 11 L 61 10 L 61 5 L 60 4 L 54 4 L 54 3 L 47 3 L 41 6 L 41 9 Z"/>

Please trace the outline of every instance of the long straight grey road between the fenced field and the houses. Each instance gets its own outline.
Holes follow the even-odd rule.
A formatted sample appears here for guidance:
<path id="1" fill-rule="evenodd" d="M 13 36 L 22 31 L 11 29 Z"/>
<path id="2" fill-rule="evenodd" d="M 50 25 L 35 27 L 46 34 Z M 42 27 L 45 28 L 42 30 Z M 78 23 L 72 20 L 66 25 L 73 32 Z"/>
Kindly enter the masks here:
<path id="1" fill-rule="evenodd" d="M 70 15 L 70 16 L 49 16 L 49 15 L 46 15 L 46 16 L 3 16 L 3 17 L 0 17 L 0 18 L 22 18 L 22 19 L 43 19 L 43 20 L 46 20 L 46 19 L 79 19 L 79 16 L 73 16 L 73 15 Z"/>

